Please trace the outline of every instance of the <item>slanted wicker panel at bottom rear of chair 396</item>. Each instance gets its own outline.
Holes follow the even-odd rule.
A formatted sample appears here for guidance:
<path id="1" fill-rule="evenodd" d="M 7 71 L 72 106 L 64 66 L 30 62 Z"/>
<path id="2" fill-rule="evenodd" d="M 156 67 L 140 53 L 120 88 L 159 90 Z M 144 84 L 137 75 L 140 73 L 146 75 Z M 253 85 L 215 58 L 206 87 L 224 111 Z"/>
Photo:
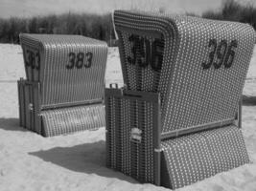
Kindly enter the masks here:
<path id="1" fill-rule="evenodd" d="M 249 162 L 242 132 L 234 125 L 162 141 L 161 146 L 173 189 Z"/>

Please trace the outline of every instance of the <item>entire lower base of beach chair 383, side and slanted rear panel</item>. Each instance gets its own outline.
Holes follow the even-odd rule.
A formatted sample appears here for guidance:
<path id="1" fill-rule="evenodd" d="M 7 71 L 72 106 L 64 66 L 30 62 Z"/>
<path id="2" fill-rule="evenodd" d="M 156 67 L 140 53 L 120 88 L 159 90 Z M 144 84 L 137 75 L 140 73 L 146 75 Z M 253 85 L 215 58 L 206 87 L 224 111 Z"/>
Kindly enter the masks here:
<path id="1" fill-rule="evenodd" d="M 83 104 L 41 104 L 40 83 L 20 78 L 17 81 L 20 126 L 43 137 L 53 137 L 105 126 L 102 100 Z"/>

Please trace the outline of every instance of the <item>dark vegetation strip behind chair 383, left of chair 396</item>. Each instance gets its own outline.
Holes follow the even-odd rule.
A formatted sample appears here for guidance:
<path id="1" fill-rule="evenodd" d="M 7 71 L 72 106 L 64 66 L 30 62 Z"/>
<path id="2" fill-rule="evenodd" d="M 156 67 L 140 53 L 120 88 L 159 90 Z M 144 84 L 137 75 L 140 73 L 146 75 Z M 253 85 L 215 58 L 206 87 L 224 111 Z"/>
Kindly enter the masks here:
<path id="1" fill-rule="evenodd" d="M 81 34 L 108 41 L 114 37 L 111 14 L 64 13 L 32 18 L 0 19 L 0 42 L 19 43 L 20 32 Z"/>

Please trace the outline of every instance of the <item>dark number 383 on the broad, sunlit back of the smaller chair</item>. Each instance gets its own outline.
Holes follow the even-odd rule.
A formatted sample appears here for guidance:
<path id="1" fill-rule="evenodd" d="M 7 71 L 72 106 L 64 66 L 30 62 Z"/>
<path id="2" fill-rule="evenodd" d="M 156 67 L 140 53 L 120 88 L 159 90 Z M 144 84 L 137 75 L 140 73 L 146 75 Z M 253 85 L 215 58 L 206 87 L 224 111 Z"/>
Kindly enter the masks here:
<path id="1" fill-rule="evenodd" d="M 69 63 L 66 65 L 66 69 L 81 69 L 82 67 L 90 68 L 92 61 L 92 53 L 69 53 Z"/>

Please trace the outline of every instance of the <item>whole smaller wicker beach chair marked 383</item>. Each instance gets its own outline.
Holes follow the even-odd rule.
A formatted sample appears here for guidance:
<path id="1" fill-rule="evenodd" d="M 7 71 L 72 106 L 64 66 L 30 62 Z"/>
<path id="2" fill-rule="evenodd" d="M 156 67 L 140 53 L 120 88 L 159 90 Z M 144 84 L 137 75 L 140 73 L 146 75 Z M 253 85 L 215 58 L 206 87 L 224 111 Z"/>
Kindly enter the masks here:
<path id="1" fill-rule="evenodd" d="M 27 79 L 18 81 L 20 125 L 45 137 L 105 126 L 105 42 L 20 34 Z"/>

